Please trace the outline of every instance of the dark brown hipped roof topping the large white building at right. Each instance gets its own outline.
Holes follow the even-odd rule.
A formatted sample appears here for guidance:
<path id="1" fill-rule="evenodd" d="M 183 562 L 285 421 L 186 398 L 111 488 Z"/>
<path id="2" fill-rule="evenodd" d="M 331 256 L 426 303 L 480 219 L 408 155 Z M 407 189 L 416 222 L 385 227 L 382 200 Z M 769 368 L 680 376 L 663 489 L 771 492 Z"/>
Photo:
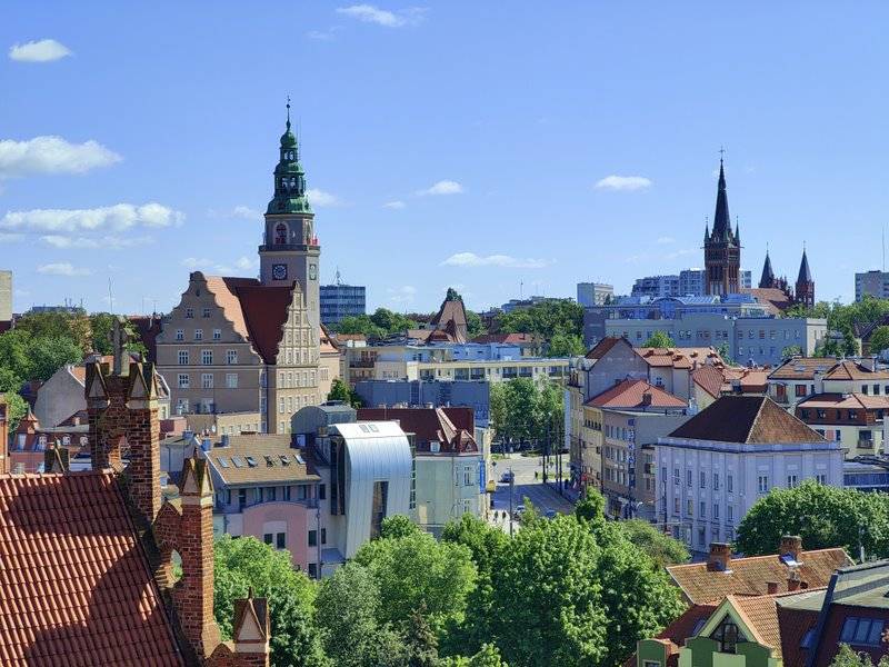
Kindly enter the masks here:
<path id="1" fill-rule="evenodd" d="M 826 441 L 766 396 L 722 396 L 670 437 L 746 444 Z"/>

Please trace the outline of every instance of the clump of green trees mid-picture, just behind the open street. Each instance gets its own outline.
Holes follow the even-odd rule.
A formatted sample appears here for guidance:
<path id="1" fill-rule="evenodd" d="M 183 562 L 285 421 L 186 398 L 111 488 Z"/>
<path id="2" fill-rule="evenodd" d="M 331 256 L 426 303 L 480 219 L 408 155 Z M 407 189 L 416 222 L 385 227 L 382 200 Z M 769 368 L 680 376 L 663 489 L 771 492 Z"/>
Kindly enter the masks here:
<path id="1" fill-rule="evenodd" d="M 493 382 L 490 388 L 490 421 L 505 445 L 561 442 L 563 396 L 559 385 L 530 378 Z"/>

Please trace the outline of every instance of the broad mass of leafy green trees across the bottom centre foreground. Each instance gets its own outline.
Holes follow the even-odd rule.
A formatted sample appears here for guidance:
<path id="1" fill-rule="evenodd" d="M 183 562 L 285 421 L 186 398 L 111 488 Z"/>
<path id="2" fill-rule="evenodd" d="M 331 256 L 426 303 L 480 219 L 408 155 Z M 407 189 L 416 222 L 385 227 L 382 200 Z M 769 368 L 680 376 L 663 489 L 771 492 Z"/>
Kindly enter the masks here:
<path id="1" fill-rule="evenodd" d="M 222 537 L 217 620 L 230 637 L 233 600 L 252 586 L 269 598 L 276 666 L 611 667 L 683 605 L 661 567 L 673 549 L 650 536 L 640 545 L 603 507 L 591 494 L 576 514 L 536 516 L 515 537 L 465 515 L 436 540 L 390 517 L 320 583 L 293 571 L 286 551 Z"/>

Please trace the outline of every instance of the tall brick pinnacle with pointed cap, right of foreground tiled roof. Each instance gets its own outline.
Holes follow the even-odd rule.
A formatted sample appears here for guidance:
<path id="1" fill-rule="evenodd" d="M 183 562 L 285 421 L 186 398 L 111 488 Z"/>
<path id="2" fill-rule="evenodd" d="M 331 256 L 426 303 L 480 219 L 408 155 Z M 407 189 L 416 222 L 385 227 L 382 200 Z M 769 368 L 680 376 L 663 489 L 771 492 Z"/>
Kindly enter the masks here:
<path id="1" fill-rule="evenodd" d="M 182 578 L 173 587 L 173 606 L 182 631 L 199 659 L 219 645 L 213 619 L 213 482 L 197 452 L 186 459 L 179 484 L 182 519 L 177 547 Z"/>

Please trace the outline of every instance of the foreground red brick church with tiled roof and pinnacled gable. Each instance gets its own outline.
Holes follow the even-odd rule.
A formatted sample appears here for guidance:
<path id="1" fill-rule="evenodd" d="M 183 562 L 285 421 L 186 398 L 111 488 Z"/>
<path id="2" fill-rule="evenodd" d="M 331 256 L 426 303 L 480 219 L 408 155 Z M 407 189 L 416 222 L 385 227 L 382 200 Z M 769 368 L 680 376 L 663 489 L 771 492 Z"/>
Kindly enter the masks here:
<path id="1" fill-rule="evenodd" d="M 87 371 L 91 470 L 70 471 L 64 448 L 39 475 L 0 458 L 0 664 L 268 665 L 264 599 L 238 600 L 220 640 L 207 462 L 187 459 L 179 497 L 161 499 L 158 375 L 117 351 Z"/>

